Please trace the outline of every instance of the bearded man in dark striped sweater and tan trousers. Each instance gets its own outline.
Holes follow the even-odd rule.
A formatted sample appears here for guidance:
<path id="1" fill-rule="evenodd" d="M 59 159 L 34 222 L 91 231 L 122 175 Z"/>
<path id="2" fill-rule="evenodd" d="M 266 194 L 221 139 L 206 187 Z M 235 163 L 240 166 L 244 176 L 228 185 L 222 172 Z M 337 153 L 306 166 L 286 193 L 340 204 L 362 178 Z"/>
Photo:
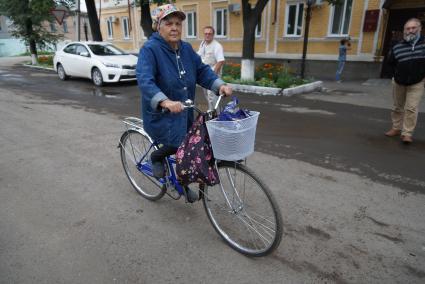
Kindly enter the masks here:
<path id="1" fill-rule="evenodd" d="M 388 137 L 400 136 L 412 143 L 412 135 L 418 118 L 418 105 L 425 84 L 425 39 L 421 36 L 421 21 L 412 18 L 406 22 L 403 41 L 390 51 L 389 63 L 393 67 L 392 128 Z"/>

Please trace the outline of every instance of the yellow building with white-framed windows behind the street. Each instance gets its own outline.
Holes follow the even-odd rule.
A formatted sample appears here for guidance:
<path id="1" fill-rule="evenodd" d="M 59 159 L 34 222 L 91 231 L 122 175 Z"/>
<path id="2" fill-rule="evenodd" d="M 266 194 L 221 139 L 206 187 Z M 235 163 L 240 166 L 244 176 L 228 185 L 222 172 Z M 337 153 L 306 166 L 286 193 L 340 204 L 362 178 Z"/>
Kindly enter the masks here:
<path id="1" fill-rule="evenodd" d="M 101 29 L 104 40 L 137 52 L 146 38 L 140 27 L 140 8 L 127 1 L 113 5 L 102 0 Z M 240 0 L 177 0 L 186 13 L 183 40 L 195 49 L 202 40 L 202 28 L 211 25 L 216 39 L 223 45 L 225 56 L 238 60 L 242 54 L 242 13 Z M 251 1 L 255 4 L 256 1 Z M 338 46 L 341 39 L 351 38 L 346 76 L 373 78 L 386 73 L 384 55 L 388 52 L 396 31 L 401 31 L 410 17 L 425 21 L 424 0 L 343 0 L 340 6 L 330 6 L 325 0 L 315 0 L 310 24 L 307 74 L 322 78 L 334 76 Z M 269 0 L 256 30 L 255 58 L 258 62 L 285 62 L 299 68 L 302 56 L 306 1 Z M 126 36 L 126 22 L 131 32 Z M 127 24 L 128 25 L 128 24 Z M 111 35 L 112 30 L 112 35 Z M 382 67 L 384 65 L 384 67 Z M 381 70 L 382 69 L 382 70 Z M 327 71 L 329 70 L 329 71 Z"/>

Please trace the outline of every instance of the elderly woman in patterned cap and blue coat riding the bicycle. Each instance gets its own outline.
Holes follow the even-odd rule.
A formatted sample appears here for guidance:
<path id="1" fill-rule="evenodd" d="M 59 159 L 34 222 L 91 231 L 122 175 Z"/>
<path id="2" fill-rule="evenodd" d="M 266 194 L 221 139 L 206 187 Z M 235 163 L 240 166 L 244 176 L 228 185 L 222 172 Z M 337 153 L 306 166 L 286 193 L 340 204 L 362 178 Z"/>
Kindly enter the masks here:
<path id="1" fill-rule="evenodd" d="M 164 176 L 163 160 L 174 154 L 193 122 L 193 110 L 182 102 L 194 100 L 196 84 L 216 93 L 231 95 L 232 89 L 217 77 L 189 43 L 181 40 L 186 15 L 172 4 L 152 13 L 155 33 L 140 50 L 137 81 L 142 94 L 144 129 L 160 144 L 151 155 L 153 173 Z M 165 108 L 169 112 L 162 112 Z"/>

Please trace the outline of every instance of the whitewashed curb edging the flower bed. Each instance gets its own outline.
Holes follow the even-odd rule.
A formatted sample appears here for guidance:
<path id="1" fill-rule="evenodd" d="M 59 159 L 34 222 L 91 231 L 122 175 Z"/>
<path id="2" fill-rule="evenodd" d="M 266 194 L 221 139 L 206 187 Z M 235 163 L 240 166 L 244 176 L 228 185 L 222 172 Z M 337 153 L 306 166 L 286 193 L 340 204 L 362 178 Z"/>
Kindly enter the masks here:
<path id="1" fill-rule="evenodd" d="M 261 87 L 261 86 L 251 86 L 251 85 L 240 85 L 240 84 L 229 84 L 232 86 L 234 91 L 242 93 L 255 93 L 263 96 L 293 96 L 297 94 L 309 93 L 313 91 L 321 91 L 323 88 L 322 81 L 316 81 L 293 88 L 272 88 L 272 87 Z"/>

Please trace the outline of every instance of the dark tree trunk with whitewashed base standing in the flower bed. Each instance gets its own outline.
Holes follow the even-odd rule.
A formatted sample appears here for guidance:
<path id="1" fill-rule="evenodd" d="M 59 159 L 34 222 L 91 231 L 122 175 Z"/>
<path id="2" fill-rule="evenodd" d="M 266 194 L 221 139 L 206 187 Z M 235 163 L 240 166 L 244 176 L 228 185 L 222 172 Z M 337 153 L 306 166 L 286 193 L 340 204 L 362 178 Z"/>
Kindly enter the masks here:
<path id="1" fill-rule="evenodd" d="M 254 7 L 249 2 L 249 0 L 242 0 L 243 44 L 241 79 L 243 80 L 254 79 L 255 28 L 268 0 L 258 0 Z"/>

